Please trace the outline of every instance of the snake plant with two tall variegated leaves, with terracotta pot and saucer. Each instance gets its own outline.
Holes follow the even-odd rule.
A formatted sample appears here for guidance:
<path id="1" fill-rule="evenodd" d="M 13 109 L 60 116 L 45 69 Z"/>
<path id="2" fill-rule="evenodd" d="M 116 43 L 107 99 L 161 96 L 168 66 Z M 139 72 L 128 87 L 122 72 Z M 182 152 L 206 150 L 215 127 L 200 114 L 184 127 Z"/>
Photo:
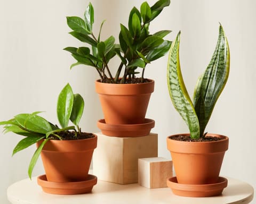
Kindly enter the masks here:
<path id="1" fill-rule="evenodd" d="M 205 127 L 229 74 L 229 46 L 222 26 L 210 64 L 199 77 L 193 101 L 183 82 L 179 60 L 180 32 L 170 49 L 167 84 L 172 103 L 188 125 L 188 134 L 167 137 L 176 173 L 167 180 L 173 192 L 181 196 L 214 196 L 227 186 L 219 177 L 228 137 L 209 134 Z"/>

